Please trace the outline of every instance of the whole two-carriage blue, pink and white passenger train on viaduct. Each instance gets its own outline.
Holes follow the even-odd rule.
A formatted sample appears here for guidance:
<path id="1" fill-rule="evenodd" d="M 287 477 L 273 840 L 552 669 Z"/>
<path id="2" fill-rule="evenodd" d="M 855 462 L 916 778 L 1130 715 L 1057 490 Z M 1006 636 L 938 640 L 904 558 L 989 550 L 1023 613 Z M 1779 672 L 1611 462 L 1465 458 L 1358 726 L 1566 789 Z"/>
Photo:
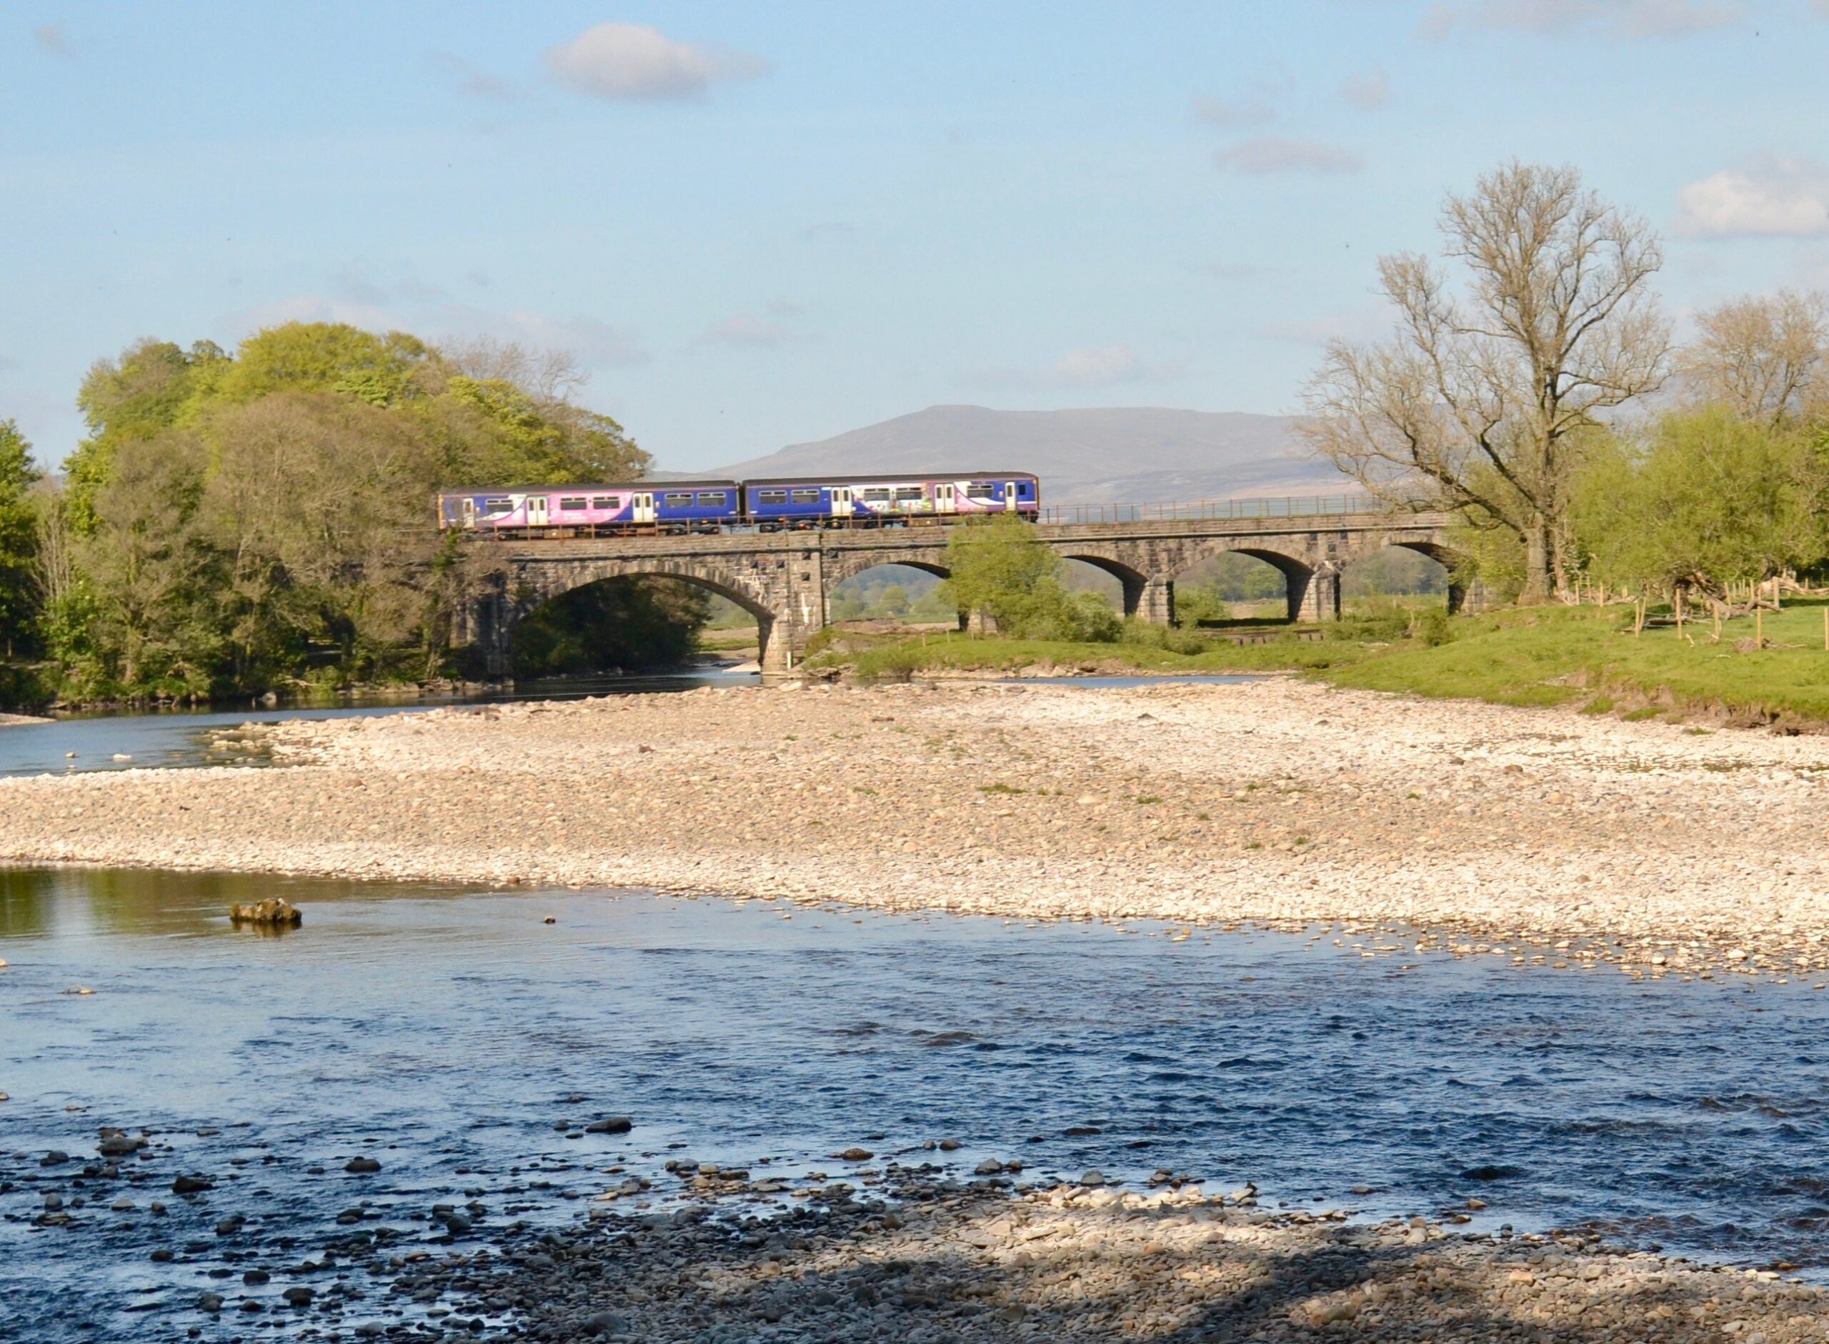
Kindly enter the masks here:
<path id="1" fill-rule="evenodd" d="M 1033 521 L 1039 512 L 1041 481 L 1026 472 L 534 485 L 439 496 L 441 530 L 497 538 L 913 527 L 977 514 Z"/>

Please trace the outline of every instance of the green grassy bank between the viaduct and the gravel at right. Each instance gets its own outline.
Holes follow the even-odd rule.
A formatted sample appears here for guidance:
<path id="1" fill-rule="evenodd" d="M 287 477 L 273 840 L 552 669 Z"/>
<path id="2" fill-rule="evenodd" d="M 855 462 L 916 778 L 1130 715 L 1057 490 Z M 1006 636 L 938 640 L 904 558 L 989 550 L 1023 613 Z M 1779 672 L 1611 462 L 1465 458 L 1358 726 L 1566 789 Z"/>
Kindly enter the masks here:
<path id="1" fill-rule="evenodd" d="M 1335 686 L 1500 704 L 1580 704 L 1595 713 L 1706 715 L 1730 720 L 1829 722 L 1824 603 L 1754 618 L 1650 624 L 1631 633 L 1626 607 L 1536 607 L 1441 622 L 1346 620 L 1324 638 L 1286 631 L 1264 644 L 1224 635 L 1134 633 L 1119 644 L 927 636 L 840 636 L 810 660 L 863 678 L 922 671 L 1225 673 L 1299 671 Z M 1659 613 L 1653 611 L 1653 618 Z"/>

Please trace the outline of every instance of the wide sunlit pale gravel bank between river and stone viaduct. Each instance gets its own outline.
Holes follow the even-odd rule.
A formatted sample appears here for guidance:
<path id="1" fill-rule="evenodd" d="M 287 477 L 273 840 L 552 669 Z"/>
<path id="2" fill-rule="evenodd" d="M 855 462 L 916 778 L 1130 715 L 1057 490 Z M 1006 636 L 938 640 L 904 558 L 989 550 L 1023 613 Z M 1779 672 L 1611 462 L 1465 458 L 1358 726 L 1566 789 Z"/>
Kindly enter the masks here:
<path id="1" fill-rule="evenodd" d="M 219 746 L 293 768 L 0 781 L 0 854 L 1344 922 L 1644 975 L 1829 971 L 1824 737 L 1293 680 L 794 682 L 293 720 Z"/>

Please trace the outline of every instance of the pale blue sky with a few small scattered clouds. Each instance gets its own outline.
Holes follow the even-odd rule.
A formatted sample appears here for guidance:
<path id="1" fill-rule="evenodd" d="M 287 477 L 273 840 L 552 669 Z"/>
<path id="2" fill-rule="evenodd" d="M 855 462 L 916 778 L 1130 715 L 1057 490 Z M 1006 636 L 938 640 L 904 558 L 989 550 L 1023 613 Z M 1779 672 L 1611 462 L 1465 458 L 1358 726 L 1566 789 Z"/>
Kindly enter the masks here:
<path id="1" fill-rule="evenodd" d="M 1681 316 L 1829 285 L 1829 0 L 0 9 L 0 417 L 340 318 L 572 349 L 697 468 L 936 402 L 1291 410 L 1571 163 Z"/>

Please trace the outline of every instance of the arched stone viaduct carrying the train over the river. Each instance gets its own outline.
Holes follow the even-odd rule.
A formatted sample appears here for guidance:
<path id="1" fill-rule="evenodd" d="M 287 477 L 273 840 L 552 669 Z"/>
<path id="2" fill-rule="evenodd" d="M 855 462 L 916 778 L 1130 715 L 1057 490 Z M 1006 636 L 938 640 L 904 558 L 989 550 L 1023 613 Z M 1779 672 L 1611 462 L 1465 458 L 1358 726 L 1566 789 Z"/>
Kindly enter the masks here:
<path id="1" fill-rule="evenodd" d="M 1075 521 L 1044 521 L 1041 539 L 1063 560 L 1081 560 L 1118 578 L 1125 614 L 1174 620 L 1174 578 L 1191 565 L 1238 550 L 1282 571 L 1289 620 L 1341 613 L 1341 571 L 1381 547 L 1407 547 L 1447 560 L 1443 514 L 1386 512 L 1346 501 L 1302 501 L 1315 512 L 1244 512 L 1257 503 L 1081 510 Z M 1326 508 L 1333 505 L 1337 508 Z M 1125 514 L 1105 519 L 1099 514 Z M 476 644 L 490 675 L 505 675 L 521 616 L 571 589 L 627 574 L 664 574 L 730 598 L 757 620 L 765 671 L 788 671 L 807 640 L 825 627 L 832 589 L 876 565 L 913 565 L 946 576 L 951 527 L 721 532 L 706 536 L 476 539 L 497 563 L 455 631 Z M 1458 607 L 1461 594 L 1449 592 Z"/>

